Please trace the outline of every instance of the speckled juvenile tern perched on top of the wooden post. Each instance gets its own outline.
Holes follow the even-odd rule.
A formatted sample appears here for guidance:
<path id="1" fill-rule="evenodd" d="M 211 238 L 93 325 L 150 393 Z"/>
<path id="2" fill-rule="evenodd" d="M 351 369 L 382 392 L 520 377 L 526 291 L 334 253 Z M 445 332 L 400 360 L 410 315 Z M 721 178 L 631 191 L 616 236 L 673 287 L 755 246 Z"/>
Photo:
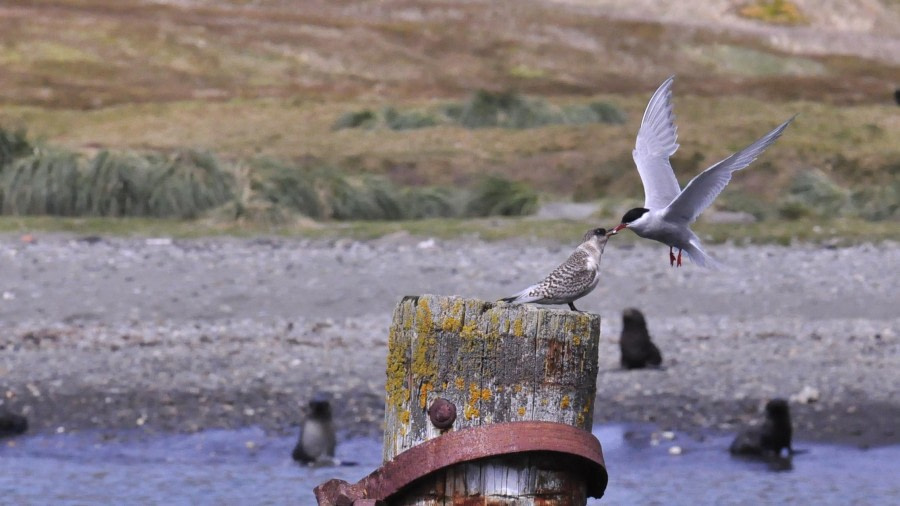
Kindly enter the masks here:
<path id="1" fill-rule="evenodd" d="M 600 280 L 600 256 L 608 240 L 606 229 L 589 230 L 575 252 L 543 281 L 500 300 L 512 303 L 568 304 L 572 311 L 578 311 L 574 302 L 589 294 Z"/>

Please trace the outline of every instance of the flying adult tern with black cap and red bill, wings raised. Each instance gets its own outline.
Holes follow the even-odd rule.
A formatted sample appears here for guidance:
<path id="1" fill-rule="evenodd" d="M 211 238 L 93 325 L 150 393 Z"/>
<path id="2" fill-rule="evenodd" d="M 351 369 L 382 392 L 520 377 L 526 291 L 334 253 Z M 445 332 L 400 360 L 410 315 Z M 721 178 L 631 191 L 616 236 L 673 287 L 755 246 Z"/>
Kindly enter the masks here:
<path id="1" fill-rule="evenodd" d="M 634 151 L 631 152 L 644 184 L 644 207 L 636 207 L 622 217 L 612 234 L 623 228 L 645 239 L 653 239 L 669 246 L 669 264 L 681 266 L 681 252 L 685 251 L 695 264 L 713 266 L 716 261 L 700 244 L 690 225 L 722 192 L 734 171 L 756 160 L 794 120 L 778 125 L 746 148 L 714 164 L 692 179 L 682 190 L 675 179 L 669 157 L 678 149 L 675 142 L 677 128 L 672 113 L 672 81 L 666 79 L 650 98 Z M 672 252 L 678 248 L 678 256 Z"/>

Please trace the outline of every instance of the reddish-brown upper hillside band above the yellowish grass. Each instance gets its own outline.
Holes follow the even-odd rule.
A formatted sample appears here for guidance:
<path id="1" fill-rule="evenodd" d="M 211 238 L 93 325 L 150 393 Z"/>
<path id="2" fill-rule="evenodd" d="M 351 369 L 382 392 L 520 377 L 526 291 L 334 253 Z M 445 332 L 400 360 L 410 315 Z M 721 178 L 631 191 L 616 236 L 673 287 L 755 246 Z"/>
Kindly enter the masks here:
<path id="1" fill-rule="evenodd" d="M 740 69 L 734 52 L 749 48 Z M 0 102 L 63 108 L 171 100 L 620 93 L 685 76 L 703 94 L 880 100 L 895 67 L 791 56 L 757 39 L 613 20 L 552 2 L 148 3 L 7 0 Z M 801 79 L 773 86 L 772 76 Z M 687 76 L 696 76 L 688 78 Z"/>

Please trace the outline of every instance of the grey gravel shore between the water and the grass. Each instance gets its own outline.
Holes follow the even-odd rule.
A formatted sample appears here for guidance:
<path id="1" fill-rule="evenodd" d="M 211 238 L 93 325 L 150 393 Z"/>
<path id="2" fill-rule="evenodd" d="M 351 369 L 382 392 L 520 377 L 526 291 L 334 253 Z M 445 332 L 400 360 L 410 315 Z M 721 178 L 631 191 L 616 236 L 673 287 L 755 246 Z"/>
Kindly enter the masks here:
<path id="1" fill-rule="evenodd" d="M 0 410 L 35 431 L 293 431 L 305 400 L 380 434 L 387 327 L 403 295 L 494 300 L 573 244 L 0 236 Z M 580 309 L 603 317 L 595 421 L 735 430 L 794 396 L 797 439 L 896 444 L 900 245 L 715 246 L 729 267 L 672 269 L 610 242 Z M 619 368 L 638 307 L 661 370 Z"/>

